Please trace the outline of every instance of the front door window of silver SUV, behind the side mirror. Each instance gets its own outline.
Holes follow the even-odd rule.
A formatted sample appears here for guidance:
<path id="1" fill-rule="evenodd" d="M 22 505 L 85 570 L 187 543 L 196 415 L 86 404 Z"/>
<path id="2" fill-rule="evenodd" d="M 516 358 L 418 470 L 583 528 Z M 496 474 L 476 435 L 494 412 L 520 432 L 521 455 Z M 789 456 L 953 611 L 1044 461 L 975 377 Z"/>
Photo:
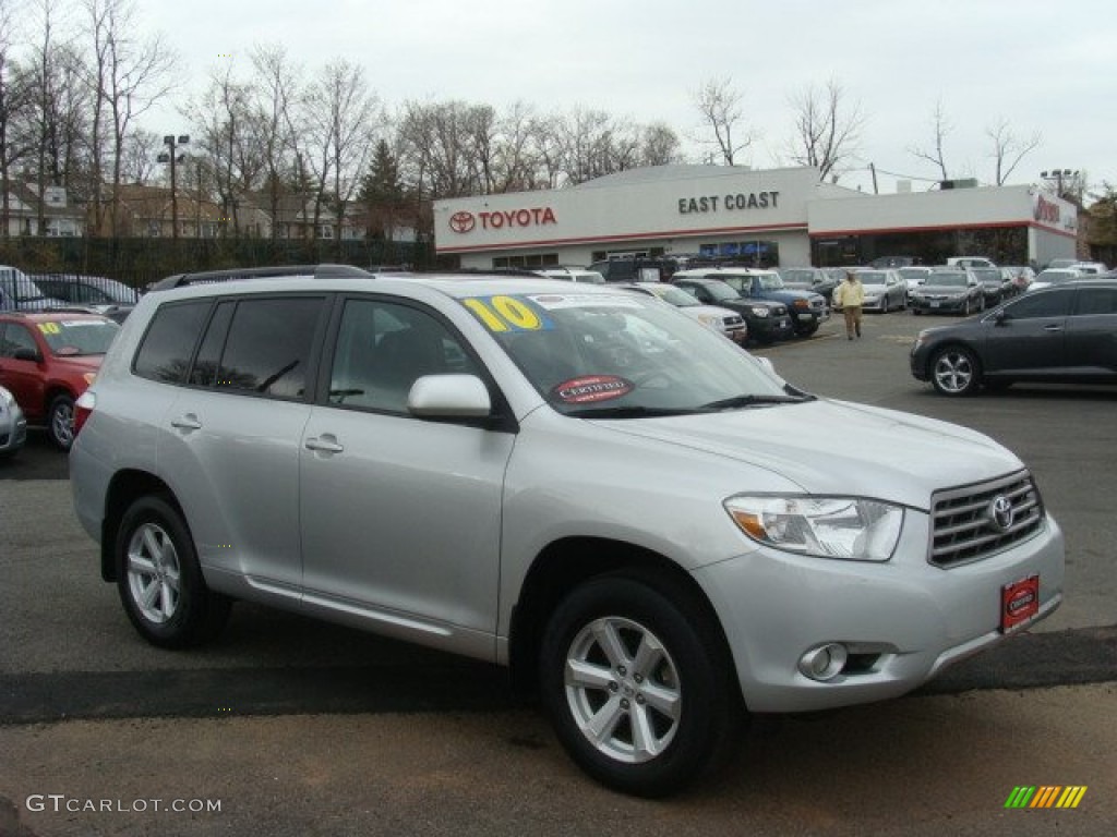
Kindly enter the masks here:
<path id="1" fill-rule="evenodd" d="M 407 412 L 423 375 L 478 374 L 476 362 L 424 310 L 378 299 L 349 299 L 330 374 L 330 403 Z"/>

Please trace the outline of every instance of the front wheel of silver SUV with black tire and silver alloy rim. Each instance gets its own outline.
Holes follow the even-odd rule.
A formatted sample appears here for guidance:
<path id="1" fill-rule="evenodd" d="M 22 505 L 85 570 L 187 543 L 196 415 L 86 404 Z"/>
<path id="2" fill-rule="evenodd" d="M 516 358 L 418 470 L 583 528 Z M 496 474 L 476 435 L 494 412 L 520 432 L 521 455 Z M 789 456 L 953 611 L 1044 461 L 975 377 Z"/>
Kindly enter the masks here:
<path id="1" fill-rule="evenodd" d="M 642 639 L 661 651 L 641 662 Z M 588 672 L 582 683 L 567 683 L 573 662 Z M 678 585 L 652 577 L 602 576 L 574 589 L 547 625 L 540 684 L 566 752 L 624 793 L 678 791 L 739 744 L 744 712 L 720 631 Z M 602 733 L 591 739 L 586 728 L 607 713 Z M 641 744 L 638 729 L 650 745 Z"/>

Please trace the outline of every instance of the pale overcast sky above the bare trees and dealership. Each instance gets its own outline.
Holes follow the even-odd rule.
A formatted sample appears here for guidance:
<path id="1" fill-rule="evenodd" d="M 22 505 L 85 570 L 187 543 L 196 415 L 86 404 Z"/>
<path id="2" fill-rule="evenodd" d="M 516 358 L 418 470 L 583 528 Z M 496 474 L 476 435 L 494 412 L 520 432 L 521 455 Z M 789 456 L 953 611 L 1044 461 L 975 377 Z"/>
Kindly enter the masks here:
<path id="1" fill-rule="evenodd" d="M 758 137 L 738 160 L 786 163 L 789 98 L 833 78 L 866 115 L 859 165 L 840 183 L 895 191 L 936 170 L 910 153 L 934 144 L 942 103 L 955 177 L 994 181 L 986 131 L 1005 119 L 1041 145 L 1011 183 L 1052 169 L 1117 185 L 1117 2 L 1114 0 L 136 0 L 137 22 L 181 57 L 187 90 L 219 62 L 248 75 L 255 45 L 284 45 L 307 76 L 336 58 L 361 62 L 394 108 L 460 99 L 544 113 L 602 109 L 641 124 L 700 129 L 694 93 L 728 78 Z M 185 97 L 185 92 L 179 94 Z M 145 126 L 189 129 L 161 109 Z"/>

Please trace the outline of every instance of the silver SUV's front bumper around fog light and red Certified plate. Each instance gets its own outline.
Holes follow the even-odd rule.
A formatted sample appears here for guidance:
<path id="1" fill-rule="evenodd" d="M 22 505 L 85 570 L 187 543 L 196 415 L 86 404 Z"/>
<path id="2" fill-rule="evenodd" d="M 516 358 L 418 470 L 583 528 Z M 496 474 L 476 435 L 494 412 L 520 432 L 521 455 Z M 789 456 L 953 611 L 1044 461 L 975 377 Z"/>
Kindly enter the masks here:
<path id="1" fill-rule="evenodd" d="M 909 510 L 884 564 L 758 549 L 695 573 L 725 627 L 750 710 L 813 711 L 909 692 L 1008 636 L 1001 591 L 1022 578 L 1040 578 L 1040 610 L 1027 625 L 1061 603 L 1065 546 L 1050 517 L 1035 537 L 951 569 L 926 560 L 927 521 Z M 850 663 L 820 682 L 799 661 L 827 643 L 843 644 Z"/>

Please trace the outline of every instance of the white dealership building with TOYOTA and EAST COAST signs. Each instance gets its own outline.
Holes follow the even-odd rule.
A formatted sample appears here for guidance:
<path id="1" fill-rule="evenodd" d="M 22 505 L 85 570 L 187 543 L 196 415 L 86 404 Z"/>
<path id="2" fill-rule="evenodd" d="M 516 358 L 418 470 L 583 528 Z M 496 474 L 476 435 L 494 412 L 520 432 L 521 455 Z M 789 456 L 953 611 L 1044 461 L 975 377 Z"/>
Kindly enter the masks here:
<path id="1" fill-rule="evenodd" d="M 436 201 L 435 242 L 443 261 L 474 269 L 627 256 L 822 267 L 881 256 L 1043 266 L 1075 256 L 1073 204 L 1035 186 L 972 183 L 867 194 L 822 183 L 813 167 L 652 166 L 569 189 Z"/>

